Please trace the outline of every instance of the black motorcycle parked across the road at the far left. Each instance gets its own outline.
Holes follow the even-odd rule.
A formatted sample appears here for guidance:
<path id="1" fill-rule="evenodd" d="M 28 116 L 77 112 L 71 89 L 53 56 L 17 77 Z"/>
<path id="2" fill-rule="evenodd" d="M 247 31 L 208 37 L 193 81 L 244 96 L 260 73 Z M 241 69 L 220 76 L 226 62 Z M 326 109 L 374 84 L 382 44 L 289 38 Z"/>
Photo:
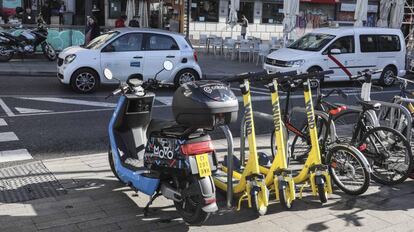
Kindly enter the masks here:
<path id="1" fill-rule="evenodd" d="M 47 59 L 56 60 L 56 51 L 46 41 L 47 35 L 46 23 L 42 17 L 37 20 L 37 28 L 24 30 L 19 36 L 0 32 L 0 62 L 11 60 L 15 53 L 33 54 L 39 45 Z"/>

